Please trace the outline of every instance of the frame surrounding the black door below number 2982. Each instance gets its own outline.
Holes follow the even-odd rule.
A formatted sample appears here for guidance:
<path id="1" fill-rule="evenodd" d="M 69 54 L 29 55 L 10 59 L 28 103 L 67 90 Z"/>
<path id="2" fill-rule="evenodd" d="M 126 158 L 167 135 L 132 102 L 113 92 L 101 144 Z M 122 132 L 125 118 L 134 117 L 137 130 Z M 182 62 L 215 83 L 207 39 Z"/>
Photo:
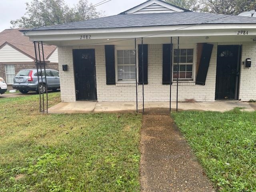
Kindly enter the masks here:
<path id="1" fill-rule="evenodd" d="M 78 50 L 93 50 L 94 52 L 94 84 L 95 84 L 95 100 L 78 100 L 77 94 L 76 94 L 76 75 L 75 75 L 75 63 L 74 63 L 74 52 Z M 72 60 L 73 60 L 73 76 L 74 76 L 74 86 L 75 86 L 75 95 L 76 95 L 76 101 L 97 101 L 98 100 L 98 94 L 97 94 L 97 81 L 96 81 L 96 52 L 95 49 L 72 49 Z"/>

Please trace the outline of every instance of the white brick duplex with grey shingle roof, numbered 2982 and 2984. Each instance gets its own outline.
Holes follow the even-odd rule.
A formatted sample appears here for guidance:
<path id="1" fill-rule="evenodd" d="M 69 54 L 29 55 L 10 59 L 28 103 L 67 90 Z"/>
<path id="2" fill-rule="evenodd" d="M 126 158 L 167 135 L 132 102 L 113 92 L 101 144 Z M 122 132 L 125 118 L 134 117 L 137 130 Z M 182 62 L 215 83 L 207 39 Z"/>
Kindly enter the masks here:
<path id="1" fill-rule="evenodd" d="M 169 101 L 170 81 L 176 100 L 177 77 L 179 101 L 256 99 L 256 18 L 148 0 L 115 16 L 23 32 L 58 46 L 63 102 L 136 101 L 136 77 L 139 101 L 143 83 L 145 101 Z"/>

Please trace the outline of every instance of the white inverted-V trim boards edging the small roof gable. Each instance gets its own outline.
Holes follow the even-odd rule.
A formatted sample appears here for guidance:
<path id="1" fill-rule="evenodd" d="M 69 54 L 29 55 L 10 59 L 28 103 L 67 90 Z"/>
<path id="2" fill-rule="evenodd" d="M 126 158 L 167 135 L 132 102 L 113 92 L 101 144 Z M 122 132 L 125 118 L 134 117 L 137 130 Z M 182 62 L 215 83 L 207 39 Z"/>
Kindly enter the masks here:
<path id="1" fill-rule="evenodd" d="M 141 4 L 141 5 L 139 5 L 139 6 L 135 7 L 135 8 L 132 8 L 131 10 L 126 11 L 125 13 L 126 14 L 133 14 L 133 13 L 135 13 L 135 12 L 137 12 L 137 11 L 147 7 L 147 6 L 150 6 L 151 4 L 154 4 L 154 3 L 159 4 L 159 5 L 163 6 L 163 7 L 166 7 L 168 9 L 170 9 L 170 10 L 174 10 L 174 12 L 184 12 L 184 10 L 182 10 L 180 8 L 177 8 L 177 7 L 174 7 L 174 6 L 172 6 L 170 4 L 167 4 L 165 2 L 158 1 L 158 0 L 150 0 L 150 1 L 145 2 L 144 4 Z"/>

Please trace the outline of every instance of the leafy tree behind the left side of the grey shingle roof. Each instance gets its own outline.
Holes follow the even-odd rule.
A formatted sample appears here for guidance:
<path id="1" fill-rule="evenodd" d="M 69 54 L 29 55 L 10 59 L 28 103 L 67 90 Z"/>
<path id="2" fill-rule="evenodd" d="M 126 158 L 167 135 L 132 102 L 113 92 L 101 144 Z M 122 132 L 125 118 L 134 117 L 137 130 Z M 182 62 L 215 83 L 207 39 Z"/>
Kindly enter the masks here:
<path id="1" fill-rule="evenodd" d="M 64 0 L 33 0 L 26 3 L 26 13 L 20 19 L 11 20 L 12 28 L 34 28 L 44 25 L 55 25 L 99 18 L 102 12 L 90 8 L 88 0 L 80 0 L 69 7 Z M 90 9 L 89 9 L 90 8 Z"/>

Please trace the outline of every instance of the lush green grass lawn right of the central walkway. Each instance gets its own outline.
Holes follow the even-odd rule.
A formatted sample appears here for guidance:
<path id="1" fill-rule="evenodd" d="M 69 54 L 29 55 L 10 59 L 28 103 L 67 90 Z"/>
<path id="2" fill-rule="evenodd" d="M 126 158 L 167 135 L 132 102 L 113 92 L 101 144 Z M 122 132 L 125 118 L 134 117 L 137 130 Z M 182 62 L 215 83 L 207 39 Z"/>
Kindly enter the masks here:
<path id="1" fill-rule="evenodd" d="M 256 112 L 172 116 L 218 191 L 256 192 Z"/>

